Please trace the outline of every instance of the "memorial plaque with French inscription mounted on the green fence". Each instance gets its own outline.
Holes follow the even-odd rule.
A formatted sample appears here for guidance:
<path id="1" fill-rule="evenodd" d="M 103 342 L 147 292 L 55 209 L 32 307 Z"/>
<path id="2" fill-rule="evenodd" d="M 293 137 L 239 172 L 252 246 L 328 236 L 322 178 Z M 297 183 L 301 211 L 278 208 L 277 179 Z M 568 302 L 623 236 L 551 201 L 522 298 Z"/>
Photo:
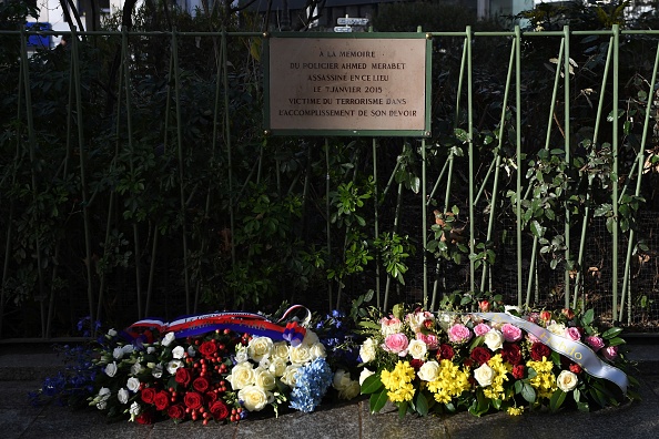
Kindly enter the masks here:
<path id="1" fill-rule="evenodd" d="M 268 39 L 267 132 L 429 135 L 425 34 L 359 35 Z"/>

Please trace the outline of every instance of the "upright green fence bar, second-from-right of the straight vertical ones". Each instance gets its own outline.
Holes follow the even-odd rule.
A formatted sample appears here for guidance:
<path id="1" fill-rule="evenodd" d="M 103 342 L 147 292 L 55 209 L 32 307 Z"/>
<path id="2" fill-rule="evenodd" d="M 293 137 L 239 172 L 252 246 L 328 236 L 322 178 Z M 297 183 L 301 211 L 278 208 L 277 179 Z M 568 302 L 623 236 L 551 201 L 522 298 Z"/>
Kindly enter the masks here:
<path id="1" fill-rule="evenodd" d="M 562 28 L 564 38 L 565 38 L 565 59 L 562 62 L 564 67 L 564 105 L 565 105 L 565 162 L 567 166 L 568 176 L 570 174 L 570 29 L 568 25 Z M 567 190 L 567 187 L 566 187 Z M 566 262 L 566 269 L 564 273 L 565 278 L 565 307 L 570 306 L 570 270 L 568 269 L 568 264 L 570 261 L 570 210 L 567 205 L 565 205 L 565 262 Z"/>

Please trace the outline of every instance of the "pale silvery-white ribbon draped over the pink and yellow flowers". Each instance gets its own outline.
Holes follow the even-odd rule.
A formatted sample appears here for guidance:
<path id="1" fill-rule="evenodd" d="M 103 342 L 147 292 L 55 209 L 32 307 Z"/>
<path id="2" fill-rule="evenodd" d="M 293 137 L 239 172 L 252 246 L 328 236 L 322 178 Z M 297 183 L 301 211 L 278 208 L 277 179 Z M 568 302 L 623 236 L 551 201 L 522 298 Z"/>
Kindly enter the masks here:
<path id="1" fill-rule="evenodd" d="M 623 395 L 627 394 L 627 386 L 629 385 L 627 375 L 622 370 L 604 363 L 592 349 L 582 343 L 558 336 L 531 321 L 506 313 L 475 313 L 474 316 L 494 323 L 508 323 L 526 330 L 552 350 L 565 355 L 581 366 L 589 375 L 608 379 L 620 387 Z"/>

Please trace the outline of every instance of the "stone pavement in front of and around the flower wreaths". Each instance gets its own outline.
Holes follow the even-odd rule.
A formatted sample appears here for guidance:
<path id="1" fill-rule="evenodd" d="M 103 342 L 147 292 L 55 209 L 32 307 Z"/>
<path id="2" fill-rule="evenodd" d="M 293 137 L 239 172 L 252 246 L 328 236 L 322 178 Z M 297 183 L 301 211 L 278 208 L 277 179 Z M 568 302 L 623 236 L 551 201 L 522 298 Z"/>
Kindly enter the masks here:
<path id="1" fill-rule="evenodd" d="M 323 407 L 310 415 L 291 412 L 280 418 L 253 416 L 237 425 L 156 422 L 141 426 L 128 421 L 108 423 L 94 410 L 74 411 L 48 405 L 31 407 L 27 397 L 41 379 L 61 368 L 61 359 L 44 348 L 0 346 L 0 437 L 10 438 L 658 438 L 659 346 L 631 346 L 639 361 L 642 401 L 594 414 L 528 412 L 481 418 L 462 412 L 453 416 L 398 419 L 395 410 L 371 415 L 368 401 Z"/>

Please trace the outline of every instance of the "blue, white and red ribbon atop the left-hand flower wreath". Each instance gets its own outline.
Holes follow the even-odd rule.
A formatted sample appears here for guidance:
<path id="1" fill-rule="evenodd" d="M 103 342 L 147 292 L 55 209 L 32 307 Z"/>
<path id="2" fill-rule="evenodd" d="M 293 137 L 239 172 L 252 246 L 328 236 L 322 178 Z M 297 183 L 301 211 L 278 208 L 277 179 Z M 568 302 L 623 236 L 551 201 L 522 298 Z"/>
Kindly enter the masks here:
<path id="1" fill-rule="evenodd" d="M 281 323 L 294 310 L 304 309 L 306 316 L 298 325 L 297 321 L 287 323 L 282 326 Z M 302 305 L 294 305 L 286 309 L 280 320 L 273 323 L 266 317 L 254 313 L 211 313 L 195 316 L 184 316 L 170 323 L 155 318 L 145 318 L 132 324 L 125 333 L 136 339 L 140 337 L 140 330 L 155 329 L 161 335 L 173 333 L 175 338 L 196 337 L 213 330 L 230 329 L 240 334 L 251 334 L 255 336 L 270 337 L 275 340 L 286 340 L 292 346 L 298 346 L 306 329 L 304 326 L 311 320 L 311 312 Z"/>

